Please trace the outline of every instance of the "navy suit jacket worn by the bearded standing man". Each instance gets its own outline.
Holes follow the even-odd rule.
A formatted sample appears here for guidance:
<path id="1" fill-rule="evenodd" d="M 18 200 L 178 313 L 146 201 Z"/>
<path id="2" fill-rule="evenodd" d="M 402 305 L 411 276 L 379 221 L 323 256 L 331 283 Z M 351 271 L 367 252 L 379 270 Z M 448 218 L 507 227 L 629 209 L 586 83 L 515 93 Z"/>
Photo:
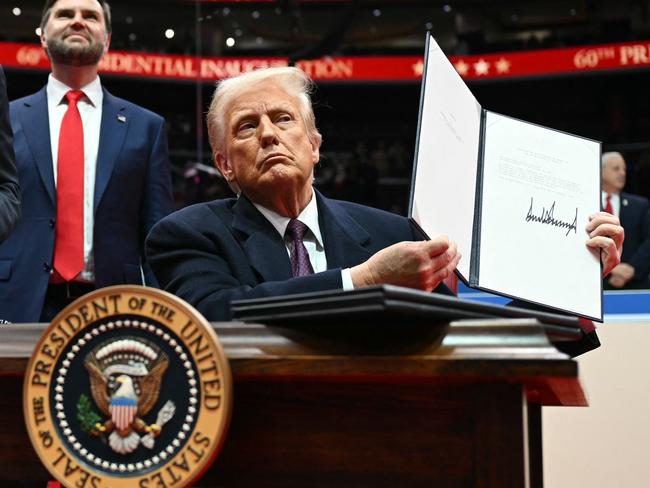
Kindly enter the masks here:
<path id="1" fill-rule="evenodd" d="M 0 312 L 39 319 L 54 252 L 56 189 L 45 88 L 10 104 L 23 217 L 0 245 Z M 144 239 L 173 210 L 162 117 L 104 90 L 94 197 L 95 285 L 155 285 Z M 141 271 L 142 269 L 142 271 Z"/>

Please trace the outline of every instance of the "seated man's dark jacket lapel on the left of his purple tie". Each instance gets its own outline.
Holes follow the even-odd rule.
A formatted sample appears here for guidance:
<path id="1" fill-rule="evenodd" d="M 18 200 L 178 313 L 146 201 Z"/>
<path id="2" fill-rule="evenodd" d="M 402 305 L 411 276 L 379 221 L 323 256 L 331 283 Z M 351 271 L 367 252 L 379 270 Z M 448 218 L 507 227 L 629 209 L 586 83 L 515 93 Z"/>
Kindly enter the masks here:
<path id="1" fill-rule="evenodd" d="M 232 226 L 251 267 L 263 281 L 291 278 L 291 263 L 284 241 L 246 197 L 240 197 L 233 206 Z"/>

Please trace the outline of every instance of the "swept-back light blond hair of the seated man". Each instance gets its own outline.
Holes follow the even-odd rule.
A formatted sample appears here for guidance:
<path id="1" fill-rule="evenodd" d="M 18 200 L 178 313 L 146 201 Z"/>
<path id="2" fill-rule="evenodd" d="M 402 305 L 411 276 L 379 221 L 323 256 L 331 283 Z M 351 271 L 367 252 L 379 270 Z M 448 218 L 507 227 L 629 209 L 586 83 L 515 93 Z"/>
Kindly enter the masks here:
<path id="1" fill-rule="evenodd" d="M 294 67 L 263 68 L 249 71 L 217 83 L 212 102 L 207 114 L 208 137 L 212 146 L 212 155 L 223 150 L 225 138 L 225 109 L 244 91 L 262 81 L 270 81 L 282 88 L 289 96 L 296 99 L 300 116 L 305 122 L 307 135 L 312 143 L 320 146 L 322 136 L 316 129 L 316 117 L 311 105 L 310 93 L 314 83 L 304 71 Z"/>

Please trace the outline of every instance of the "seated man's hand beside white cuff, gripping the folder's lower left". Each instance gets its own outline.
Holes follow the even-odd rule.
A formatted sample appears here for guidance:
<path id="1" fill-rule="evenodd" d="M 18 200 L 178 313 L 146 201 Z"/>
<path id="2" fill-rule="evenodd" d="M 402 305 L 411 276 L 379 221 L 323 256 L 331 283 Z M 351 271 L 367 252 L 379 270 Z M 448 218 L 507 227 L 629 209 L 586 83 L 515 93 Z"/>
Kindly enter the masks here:
<path id="1" fill-rule="evenodd" d="M 387 284 L 431 291 L 453 272 L 460 257 L 446 236 L 399 242 L 350 268 L 350 275 L 355 288 Z"/>

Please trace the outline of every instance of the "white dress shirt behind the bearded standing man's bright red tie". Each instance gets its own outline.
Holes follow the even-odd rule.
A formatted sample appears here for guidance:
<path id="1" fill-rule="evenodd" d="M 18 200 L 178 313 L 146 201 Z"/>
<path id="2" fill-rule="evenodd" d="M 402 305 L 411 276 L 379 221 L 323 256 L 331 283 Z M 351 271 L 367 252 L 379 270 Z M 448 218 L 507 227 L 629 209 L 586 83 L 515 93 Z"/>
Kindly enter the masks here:
<path id="1" fill-rule="evenodd" d="M 65 94 L 70 90 L 70 87 L 61 83 L 50 74 L 46 91 L 55 187 L 57 182 L 59 132 L 61 131 L 63 116 L 68 110 L 68 102 Z M 95 265 L 93 259 L 93 201 L 95 197 L 95 173 L 97 169 L 104 93 L 102 92 L 99 77 L 82 87 L 81 91 L 84 93 L 84 96 L 79 100 L 77 107 L 79 108 L 84 131 L 84 269 L 75 281 L 93 283 L 95 281 Z"/>

